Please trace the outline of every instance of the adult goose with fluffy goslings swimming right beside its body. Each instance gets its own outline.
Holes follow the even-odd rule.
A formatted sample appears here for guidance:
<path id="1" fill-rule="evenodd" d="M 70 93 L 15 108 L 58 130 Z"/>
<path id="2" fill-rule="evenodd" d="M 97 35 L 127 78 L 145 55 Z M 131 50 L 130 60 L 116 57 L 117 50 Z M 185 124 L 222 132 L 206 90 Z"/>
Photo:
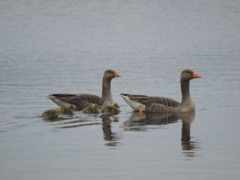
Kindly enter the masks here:
<path id="1" fill-rule="evenodd" d="M 61 107 L 74 105 L 78 111 L 91 107 L 93 104 L 97 104 L 102 109 L 114 103 L 111 93 L 111 80 L 115 77 L 122 76 L 111 69 L 104 72 L 101 97 L 92 94 L 51 94 L 48 98 Z"/>

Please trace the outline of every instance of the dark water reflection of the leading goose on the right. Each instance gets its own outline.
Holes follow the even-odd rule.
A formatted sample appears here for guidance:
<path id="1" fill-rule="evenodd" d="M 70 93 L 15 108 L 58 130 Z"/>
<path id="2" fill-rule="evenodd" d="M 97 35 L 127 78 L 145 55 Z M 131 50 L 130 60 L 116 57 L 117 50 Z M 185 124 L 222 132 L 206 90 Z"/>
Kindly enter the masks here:
<path id="1" fill-rule="evenodd" d="M 146 131 L 148 125 L 167 125 L 182 120 L 181 146 L 187 157 L 195 157 L 195 150 L 199 149 L 197 142 L 191 140 L 190 129 L 194 121 L 195 112 L 187 113 L 133 113 L 128 121 L 123 123 L 125 131 Z"/>

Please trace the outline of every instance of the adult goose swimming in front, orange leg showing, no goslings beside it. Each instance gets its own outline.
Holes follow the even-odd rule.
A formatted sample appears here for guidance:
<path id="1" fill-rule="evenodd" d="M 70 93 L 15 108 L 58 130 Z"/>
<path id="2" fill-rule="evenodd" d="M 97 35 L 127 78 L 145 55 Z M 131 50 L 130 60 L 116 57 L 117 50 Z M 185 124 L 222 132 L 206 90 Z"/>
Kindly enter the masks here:
<path id="1" fill-rule="evenodd" d="M 131 94 L 120 94 L 120 96 L 134 111 L 153 113 L 194 111 L 195 104 L 190 96 L 189 81 L 195 78 L 201 78 L 201 76 L 190 69 L 182 71 L 180 79 L 182 101 L 180 103 L 173 99 L 159 96 Z"/>

